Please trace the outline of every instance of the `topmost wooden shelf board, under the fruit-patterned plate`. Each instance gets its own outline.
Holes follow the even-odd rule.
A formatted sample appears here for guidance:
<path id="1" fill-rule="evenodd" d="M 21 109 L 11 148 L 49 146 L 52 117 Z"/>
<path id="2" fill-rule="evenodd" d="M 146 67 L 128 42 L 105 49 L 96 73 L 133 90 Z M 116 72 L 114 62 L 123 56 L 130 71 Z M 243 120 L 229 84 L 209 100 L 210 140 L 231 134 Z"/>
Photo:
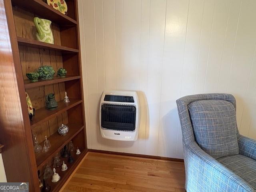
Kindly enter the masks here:
<path id="1" fill-rule="evenodd" d="M 24 3 L 22 0 L 12 0 L 12 3 L 30 12 L 33 11 L 36 15 L 61 26 L 74 26 L 77 24 L 76 20 L 62 14 L 42 0 L 26 0 L 26 3 Z"/>

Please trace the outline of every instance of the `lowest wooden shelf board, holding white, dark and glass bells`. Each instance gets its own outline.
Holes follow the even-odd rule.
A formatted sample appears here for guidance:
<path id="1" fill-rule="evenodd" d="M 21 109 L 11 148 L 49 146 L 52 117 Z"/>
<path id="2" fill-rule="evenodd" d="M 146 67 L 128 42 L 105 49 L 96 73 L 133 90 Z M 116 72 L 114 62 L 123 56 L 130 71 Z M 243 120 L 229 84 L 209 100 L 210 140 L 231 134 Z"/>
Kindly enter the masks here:
<path id="1" fill-rule="evenodd" d="M 70 174 L 74 171 L 74 169 L 78 166 L 78 164 L 81 162 L 81 160 L 84 158 L 84 155 L 86 154 L 86 149 L 80 149 L 81 154 L 76 155 L 73 154 L 72 157 L 74 158 L 74 162 L 72 164 L 68 163 L 68 158 L 60 158 L 60 162 L 63 160 L 65 161 L 65 164 L 67 164 L 68 169 L 66 171 L 62 171 L 61 167 L 56 168 L 56 173 L 60 175 L 60 180 L 56 183 L 53 183 L 51 180 L 52 178 L 47 179 L 47 183 L 51 186 L 51 192 L 59 192 L 64 183 L 68 180 Z M 53 168 L 53 167 L 52 167 Z M 41 180 L 43 178 L 41 177 Z"/>

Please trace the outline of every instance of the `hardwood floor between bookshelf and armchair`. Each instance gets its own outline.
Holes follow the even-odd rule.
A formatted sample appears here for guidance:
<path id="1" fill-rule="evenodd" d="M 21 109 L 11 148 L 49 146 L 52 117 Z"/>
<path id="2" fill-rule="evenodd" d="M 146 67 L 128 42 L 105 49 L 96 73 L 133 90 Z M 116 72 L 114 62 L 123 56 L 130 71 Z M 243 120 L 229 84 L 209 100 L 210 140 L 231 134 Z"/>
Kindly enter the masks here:
<path id="1" fill-rule="evenodd" d="M 88 152 L 63 192 L 185 192 L 183 162 Z"/>

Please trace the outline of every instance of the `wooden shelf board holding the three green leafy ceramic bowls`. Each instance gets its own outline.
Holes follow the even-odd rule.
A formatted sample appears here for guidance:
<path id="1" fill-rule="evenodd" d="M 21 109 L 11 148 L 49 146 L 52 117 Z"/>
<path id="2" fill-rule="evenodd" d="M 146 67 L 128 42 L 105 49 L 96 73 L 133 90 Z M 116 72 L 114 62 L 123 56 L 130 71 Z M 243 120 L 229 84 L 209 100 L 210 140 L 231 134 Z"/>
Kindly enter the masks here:
<path id="1" fill-rule="evenodd" d="M 37 86 L 49 85 L 49 84 L 53 84 L 53 83 L 71 81 L 71 80 L 75 80 L 75 79 L 80 79 L 80 76 L 66 75 L 66 77 L 64 77 L 64 78 L 61 78 L 59 76 L 54 76 L 54 78 L 51 80 L 38 80 L 37 82 L 31 82 L 30 80 L 26 79 L 26 80 L 24 80 L 24 87 L 25 87 L 25 89 L 28 89 L 28 88 L 33 88 L 33 87 L 37 87 Z"/>

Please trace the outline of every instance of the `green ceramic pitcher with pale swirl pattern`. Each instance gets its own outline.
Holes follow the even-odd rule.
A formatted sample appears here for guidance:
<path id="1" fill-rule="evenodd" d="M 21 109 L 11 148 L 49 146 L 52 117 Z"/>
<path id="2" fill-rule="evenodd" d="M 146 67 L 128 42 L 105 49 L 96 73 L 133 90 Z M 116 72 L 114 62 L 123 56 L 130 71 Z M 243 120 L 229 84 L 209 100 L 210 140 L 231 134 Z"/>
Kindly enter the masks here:
<path id="1" fill-rule="evenodd" d="M 41 42 L 54 44 L 54 39 L 51 30 L 52 22 L 47 19 L 34 17 L 34 23 L 37 29 L 36 39 Z"/>

